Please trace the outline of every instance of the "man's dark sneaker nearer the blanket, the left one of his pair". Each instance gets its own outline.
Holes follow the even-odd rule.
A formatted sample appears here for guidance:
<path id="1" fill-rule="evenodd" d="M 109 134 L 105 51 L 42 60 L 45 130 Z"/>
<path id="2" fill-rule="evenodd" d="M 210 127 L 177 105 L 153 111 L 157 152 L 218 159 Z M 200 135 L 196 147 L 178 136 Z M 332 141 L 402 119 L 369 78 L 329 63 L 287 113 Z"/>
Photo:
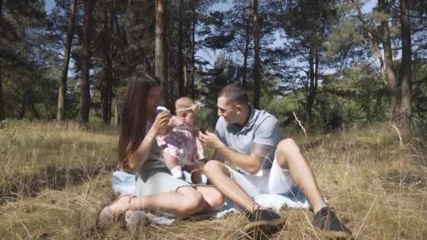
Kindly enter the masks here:
<path id="1" fill-rule="evenodd" d="M 268 209 L 258 208 L 249 217 L 249 223 L 244 225 L 242 231 L 251 236 L 252 239 L 273 234 L 280 231 L 284 226 L 284 221 L 280 215 Z"/>

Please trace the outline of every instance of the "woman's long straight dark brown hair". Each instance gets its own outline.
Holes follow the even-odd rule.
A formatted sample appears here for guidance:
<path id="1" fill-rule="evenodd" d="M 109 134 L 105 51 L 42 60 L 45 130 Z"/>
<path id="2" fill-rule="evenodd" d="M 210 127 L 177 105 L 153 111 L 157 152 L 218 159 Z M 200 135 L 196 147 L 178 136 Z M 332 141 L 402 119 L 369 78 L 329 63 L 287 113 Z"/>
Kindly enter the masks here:
<path id="1" fill-rule="evenodd" d="M 121 110 L 118 168 L 131 171 L 129 156 L 136 151 L 145 138 L 148 91 L 159 85 L 160 81 L 157 77 L 139 70 L 129 79 Z"/>

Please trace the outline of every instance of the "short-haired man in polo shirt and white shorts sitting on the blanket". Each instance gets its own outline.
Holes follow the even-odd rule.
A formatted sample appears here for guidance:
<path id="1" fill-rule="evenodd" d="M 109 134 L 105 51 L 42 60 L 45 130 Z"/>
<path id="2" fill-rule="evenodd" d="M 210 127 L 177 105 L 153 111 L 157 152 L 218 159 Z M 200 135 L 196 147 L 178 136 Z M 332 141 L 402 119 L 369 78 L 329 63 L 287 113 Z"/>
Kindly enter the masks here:
<path id="1" fill-rule="evenodd" d="M 329 236 L 351 236 L 333 208 L 324 203 L 313 172 L 294 140 L 281 140 L 275 116 L 249 106 L 247 93 L 237 84 L 223 88 L 217 106 L 220 117 L 216 134 L 199 132 L 204 145 L 215 150 L 215 160 L 205 164 L 204 173 L 222 194 L 249 211 L 250 222 L 243 227 L 244 232 L 268 234 L 282 229 L 280 215 L 261 208 L 253 198 L 258 194 L 286 194 L 296 185 L 313 208 L 313 225 Z M 237 171 L 223 164 L 225 159 Z"/>

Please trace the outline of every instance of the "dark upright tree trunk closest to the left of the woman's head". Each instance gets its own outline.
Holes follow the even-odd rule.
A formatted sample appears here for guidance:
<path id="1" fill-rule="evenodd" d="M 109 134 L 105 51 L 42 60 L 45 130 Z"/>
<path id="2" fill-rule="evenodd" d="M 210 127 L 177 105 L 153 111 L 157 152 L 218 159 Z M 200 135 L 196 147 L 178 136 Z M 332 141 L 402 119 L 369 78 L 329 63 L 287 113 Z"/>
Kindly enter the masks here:
<path id="1" fill-rule="evenodd" d="M 103 72 L 101 75 L 101 108 L 103 109 L 103 124 L 110 124 L 112 107 L 112 20 L 113 11 L 105 9 L 105 48 L 103 53 Z"/>

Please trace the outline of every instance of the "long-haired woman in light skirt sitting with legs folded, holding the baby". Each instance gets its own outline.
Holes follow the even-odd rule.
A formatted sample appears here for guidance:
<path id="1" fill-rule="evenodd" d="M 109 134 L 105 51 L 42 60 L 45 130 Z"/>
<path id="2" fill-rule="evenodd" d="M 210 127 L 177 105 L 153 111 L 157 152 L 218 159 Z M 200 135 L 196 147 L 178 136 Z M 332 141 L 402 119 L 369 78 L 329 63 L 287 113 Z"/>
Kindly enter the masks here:
<path id="1" fill-rule="evenodd" d="M 223 206 L 223 195 L 206 185 L 190 185 L 173 178 L 155 141 L 166 128 L 170 113 L 157 114 L 162 98 L 159 79 L 135 72 L 124 95 L 119 135 L 119 168 L 137 173 L 137 195 L 121 195 L 105 206 L 96 220 L 97 227 L 111 225 L 128 210 L 162 210 L 175 215 L 190 215 Z"/>

